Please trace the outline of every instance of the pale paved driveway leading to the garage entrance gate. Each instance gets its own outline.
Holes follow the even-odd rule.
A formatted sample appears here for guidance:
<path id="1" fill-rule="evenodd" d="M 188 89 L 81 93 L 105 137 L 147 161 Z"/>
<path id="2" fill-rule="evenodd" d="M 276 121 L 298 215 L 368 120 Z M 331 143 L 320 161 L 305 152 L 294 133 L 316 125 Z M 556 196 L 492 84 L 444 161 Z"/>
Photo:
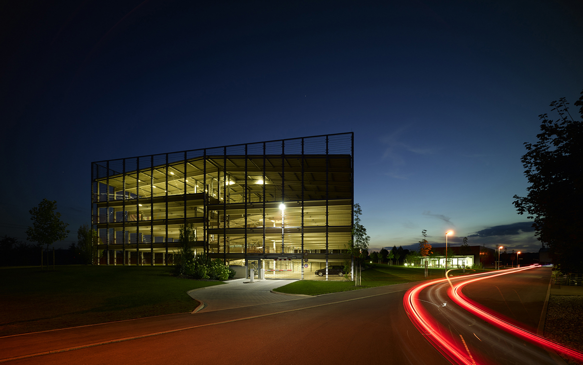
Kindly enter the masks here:
<path id="1" fill-rule="evenodd" d="M 226 281 L 224 285 L 208 286 L 188 292 L 188 295 L 201 302 L 193 313 L 233 309 L 258 304 L 287 302 L 305 299 L 305 296 L 293 296 L 272 293 L 271 290 L 290 284 L 295 280 L 255 280 L 236 279 Z"/>

